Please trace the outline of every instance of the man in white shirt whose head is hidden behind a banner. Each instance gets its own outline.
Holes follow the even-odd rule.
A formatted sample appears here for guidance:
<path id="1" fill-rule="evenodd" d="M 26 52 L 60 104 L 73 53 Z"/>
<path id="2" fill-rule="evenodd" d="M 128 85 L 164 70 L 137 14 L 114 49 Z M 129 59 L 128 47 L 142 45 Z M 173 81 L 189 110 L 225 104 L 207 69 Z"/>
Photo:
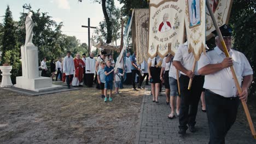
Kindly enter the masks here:
<path id="1" fill-rule="evenodd" d="M 203 79 L 197 70 L 191 71 L 195 61 L 193 53 L 188 52 L 187 42 L 179 46 L 173 58 L 173 65 L 181 71 L 179 81 L 181 83 L 181 111 L 179 113 L 179 134 L 185 134 L 186 130 L 194 133 L 196 124 L 197 106 L 202 92 Z M 191 89 L 188 89 L 189 79 L 193 79 Z M 190 107 L 190 110 L 189 110 Z M 188 126 L 187 126 L 188 124 Z"/>

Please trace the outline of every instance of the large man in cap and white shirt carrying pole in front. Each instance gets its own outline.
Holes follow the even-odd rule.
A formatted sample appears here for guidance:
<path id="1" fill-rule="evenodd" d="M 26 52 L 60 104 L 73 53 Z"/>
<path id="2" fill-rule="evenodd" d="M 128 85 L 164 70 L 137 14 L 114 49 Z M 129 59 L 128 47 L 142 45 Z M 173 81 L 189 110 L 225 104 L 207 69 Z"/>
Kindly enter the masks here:
<path id="1" fill-rule="evenodd" d="M 252 83 L 253 70 L 243 53 L 231 49 L 232 30 L 229 26 L 220 27 L 229 55 L 225 57 L 220 38 L 217 36 L 216 47 L 201 55 L 199 60 L 199 74 L 205 75 L 203 88 L 207 109 L 208 125 L 210 129 L 209 143 L 225 143 L 225 136 L 234 124 L 239 105 L 239 99 L 247 101 L 247 89 Z M 213 31 L 215 35 L 216 31 Z M 242 88 L 238 95 L 230 66 L 234 65 L 237 80 Z M 238 95 L 238 97 L 237 97 Z M 240 98 L 239 98 L 240 97 Z"/>

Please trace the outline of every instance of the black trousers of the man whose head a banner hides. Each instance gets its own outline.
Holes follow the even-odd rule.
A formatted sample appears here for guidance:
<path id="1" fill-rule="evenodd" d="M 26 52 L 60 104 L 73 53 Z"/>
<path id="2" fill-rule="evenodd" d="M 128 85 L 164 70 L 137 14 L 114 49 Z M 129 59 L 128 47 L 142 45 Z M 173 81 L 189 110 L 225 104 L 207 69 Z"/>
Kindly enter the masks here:
<path id="1" fill-rule="evenodd" d="M 181 75 L 181 110 L 179 112 L 179 129 L 188 129 L 188 125 L 196 124 L 197 107 L 202 93 L 203 76 L 196 75 L 190 90 L 188 90 L 189 77 Z M 190 108 L 190 110 L 189 110 Z"/>

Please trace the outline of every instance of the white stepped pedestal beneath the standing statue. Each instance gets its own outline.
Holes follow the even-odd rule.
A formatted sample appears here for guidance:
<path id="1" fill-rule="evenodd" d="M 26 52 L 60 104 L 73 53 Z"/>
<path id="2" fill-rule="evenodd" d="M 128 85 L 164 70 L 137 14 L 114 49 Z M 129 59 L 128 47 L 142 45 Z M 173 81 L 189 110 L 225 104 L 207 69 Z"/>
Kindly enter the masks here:
<path id="1" fill-rule="evenodd" d="M 21 46 L 22 76 L 16 77 L 15 87 L 30 91 L 48 91 L 62 86 L 52 85 L 51 77 L 40 77 L 37 46 Z"/>

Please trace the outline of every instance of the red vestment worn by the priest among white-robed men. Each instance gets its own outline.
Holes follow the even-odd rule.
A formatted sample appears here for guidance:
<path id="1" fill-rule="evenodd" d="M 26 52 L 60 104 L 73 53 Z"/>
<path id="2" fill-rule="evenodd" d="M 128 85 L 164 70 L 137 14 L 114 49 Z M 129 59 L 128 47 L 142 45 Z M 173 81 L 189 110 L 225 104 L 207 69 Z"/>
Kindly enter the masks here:
<path id="1" fill-rule="evenodd" d="M 74 75 L 74 77 L 78 77 L 79 82 L 82 82 L 85 63 L 82 59 L 75 58 L 74 59 L 74 66 L 75 66 L 75 75 Z"/>

